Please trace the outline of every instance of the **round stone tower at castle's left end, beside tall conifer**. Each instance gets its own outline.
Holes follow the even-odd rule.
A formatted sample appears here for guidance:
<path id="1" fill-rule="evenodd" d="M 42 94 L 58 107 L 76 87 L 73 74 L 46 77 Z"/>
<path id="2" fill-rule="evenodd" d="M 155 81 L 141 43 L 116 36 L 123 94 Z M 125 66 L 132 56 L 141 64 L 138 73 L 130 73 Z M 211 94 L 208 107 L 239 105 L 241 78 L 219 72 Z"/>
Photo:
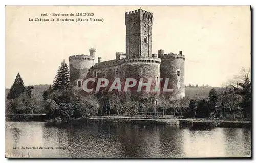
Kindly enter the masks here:
<path id="1" fill-rule="evenodd" d="M 89 49 L 90 55 L 69 56 L 70 83 L 82 88 L 82 80 L 86 78 L 89 69 L 95 64 L 94 48 Z"/>

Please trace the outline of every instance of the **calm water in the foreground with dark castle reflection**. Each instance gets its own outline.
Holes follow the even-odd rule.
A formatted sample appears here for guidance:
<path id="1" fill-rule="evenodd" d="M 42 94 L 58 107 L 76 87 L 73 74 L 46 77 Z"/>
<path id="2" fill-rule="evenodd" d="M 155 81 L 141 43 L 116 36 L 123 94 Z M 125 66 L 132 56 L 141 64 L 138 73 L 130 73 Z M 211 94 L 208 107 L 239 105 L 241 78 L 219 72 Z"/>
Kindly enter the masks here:
<path id="1" fill-rule="evenodd" d="M 152 124 L 6 122 L 7 157 L 183 158 L 250 154 L 251 131 L 244 128 L 195 130 Z"/>

